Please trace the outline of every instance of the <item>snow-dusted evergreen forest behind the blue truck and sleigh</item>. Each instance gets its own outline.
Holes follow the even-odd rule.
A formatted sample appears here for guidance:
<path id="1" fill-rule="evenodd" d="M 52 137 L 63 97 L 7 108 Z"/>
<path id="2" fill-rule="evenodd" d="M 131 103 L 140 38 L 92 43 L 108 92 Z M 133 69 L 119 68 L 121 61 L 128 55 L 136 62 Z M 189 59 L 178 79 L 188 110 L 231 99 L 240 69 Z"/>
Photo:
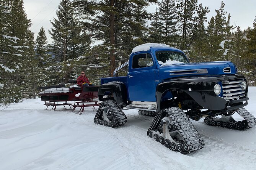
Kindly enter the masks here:
<path id="1" fill-rule="evenodd" d="M 36 98 L 38 87 L 68 86 L 80 71 L 99 85 L 143 43 L 179 48 L 191 62 L 232 61 L 256 86 L 256 19 L 246 30 L 232 26 L 224 2 L 215 16 L 207 13 L 197 0 L 61 0 L 51 29 L 34 34 L 23 0 L 0 0 L 0 103 Z"/>

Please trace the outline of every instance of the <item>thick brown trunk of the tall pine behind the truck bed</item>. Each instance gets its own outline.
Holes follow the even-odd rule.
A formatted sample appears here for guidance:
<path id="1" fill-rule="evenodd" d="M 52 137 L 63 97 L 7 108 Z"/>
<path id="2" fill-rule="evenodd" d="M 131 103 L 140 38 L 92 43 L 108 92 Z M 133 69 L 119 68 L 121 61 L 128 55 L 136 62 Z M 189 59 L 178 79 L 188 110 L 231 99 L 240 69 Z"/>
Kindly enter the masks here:
<path id="1" fill-rule="evenodd" d="M 109 6 L 113 7 L 114 6 L 114 0 L 110 0 Z M 114 37 L 114 11 L 111 9 L 109 11 L 109 35 L 110 35 L 110 44 L 112 45 L 112 49 L 110 51 L 110 68 L 109 68 L 109 74 L 111 77 L 114 77 L 114 69 L 115 69 L 115 62 L 116 62 L 116 57 L 114 55 L 115 53 L 115 37 Z"/>

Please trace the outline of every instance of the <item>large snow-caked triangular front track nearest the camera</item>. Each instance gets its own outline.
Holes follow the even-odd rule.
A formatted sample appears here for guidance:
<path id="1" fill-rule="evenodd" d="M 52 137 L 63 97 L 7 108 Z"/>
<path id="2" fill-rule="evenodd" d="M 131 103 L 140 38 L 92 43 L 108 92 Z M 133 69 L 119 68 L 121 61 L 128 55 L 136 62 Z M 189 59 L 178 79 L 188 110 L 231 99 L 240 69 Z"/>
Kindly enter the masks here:
<path id="1" fill-rule="evenodd" d="M 178 107 L 171 107 L 158 112 L 147 134 L 148 137 L 153 137 L 172 151 L 183 154 L 204 147 L 204 140 L 192 125 L 186 113 Z"/>

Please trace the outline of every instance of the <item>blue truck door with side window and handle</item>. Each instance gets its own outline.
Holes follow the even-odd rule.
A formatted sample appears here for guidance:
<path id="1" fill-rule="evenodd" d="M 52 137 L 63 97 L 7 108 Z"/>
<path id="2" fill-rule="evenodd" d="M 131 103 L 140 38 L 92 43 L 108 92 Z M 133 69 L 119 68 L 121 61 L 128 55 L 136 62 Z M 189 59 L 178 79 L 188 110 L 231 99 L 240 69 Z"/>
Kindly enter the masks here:
<path id="1" fill-rule="evenodd" d="M 156 101 L 155 70 L 150 53 L 134 55 L 127 74 L 129 98 L 131 101 Z"/>

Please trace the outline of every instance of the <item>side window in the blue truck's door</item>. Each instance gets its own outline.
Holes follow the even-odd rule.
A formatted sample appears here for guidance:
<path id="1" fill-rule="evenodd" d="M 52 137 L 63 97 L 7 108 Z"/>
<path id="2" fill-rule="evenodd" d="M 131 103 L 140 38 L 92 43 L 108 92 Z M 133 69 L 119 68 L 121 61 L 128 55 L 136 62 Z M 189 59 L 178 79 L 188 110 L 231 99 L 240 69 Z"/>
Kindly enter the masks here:
<path id="1" fill-rule="evenodd" d="M 153 66 L 153 60 L 150 54 L 139 54 L 133 57 L 132 68 L 142 68 Z"/>

